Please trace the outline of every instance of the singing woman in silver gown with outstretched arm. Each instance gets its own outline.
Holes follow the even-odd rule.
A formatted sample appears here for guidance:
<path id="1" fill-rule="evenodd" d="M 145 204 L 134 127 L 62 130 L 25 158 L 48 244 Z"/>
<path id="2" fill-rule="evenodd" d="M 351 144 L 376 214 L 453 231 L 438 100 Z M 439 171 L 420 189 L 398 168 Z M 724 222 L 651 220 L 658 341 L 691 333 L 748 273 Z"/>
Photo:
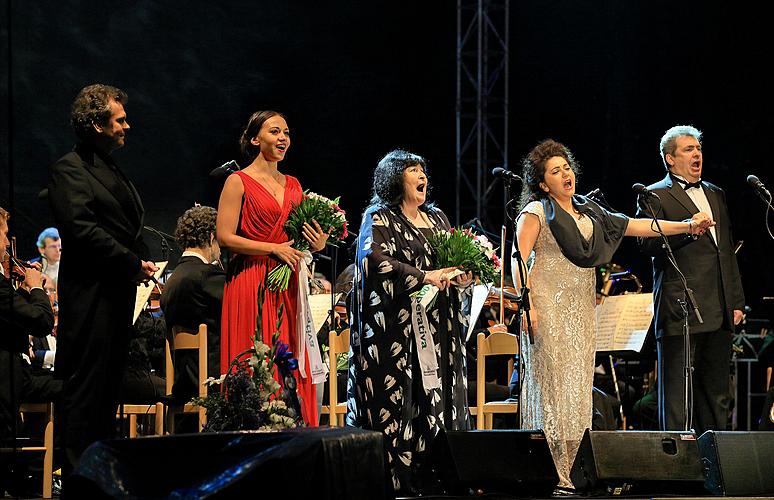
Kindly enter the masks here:
<path id="1" fill-rule="evenodd" d="M 527 277 L 534 344 L 522 342 L 522 428 L 545 432 L 561 489 L 572 489 L 570 468 L 591 427 L 594 267 L 610 262 L 623 236 L 659 236 L 650 219 L 608 212 L 576 195 L 577 173 L 564 145 L 547 139 L 533 148 L 523 162 L 516 229 L 521 255 L 526 259 L 534 252 Z M 666 235 L 701 234 L 714 225 L 702 212 L 691 220 L 659 223 Z M 515 263 L 511 268 L 517 269 Z M 514 283 L 520 283 L 516 272 Z"/>

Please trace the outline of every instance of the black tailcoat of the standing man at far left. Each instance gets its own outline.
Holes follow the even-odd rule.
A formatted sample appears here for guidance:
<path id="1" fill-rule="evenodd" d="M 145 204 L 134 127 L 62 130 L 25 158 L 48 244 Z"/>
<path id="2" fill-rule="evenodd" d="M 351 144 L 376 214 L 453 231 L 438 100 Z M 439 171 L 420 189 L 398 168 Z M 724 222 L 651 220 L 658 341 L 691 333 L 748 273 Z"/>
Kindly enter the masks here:
<path id="1" fill-rule="evenodd" d="M 50 173 L 48 198 L 67 241 L 58 279 L 56 370 L 67 377 L 93 335 L 128 335 L 137 290 L 132 278 L 147 248 L 140 197 L 109 155 L 82 143 Z"/>

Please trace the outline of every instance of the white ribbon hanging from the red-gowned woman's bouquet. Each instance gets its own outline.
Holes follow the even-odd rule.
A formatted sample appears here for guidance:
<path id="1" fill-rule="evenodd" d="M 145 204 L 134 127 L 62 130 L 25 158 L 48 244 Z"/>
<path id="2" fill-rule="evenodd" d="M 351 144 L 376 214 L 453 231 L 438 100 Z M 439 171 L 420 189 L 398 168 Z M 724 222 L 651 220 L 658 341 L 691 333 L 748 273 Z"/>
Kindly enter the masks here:
<path id="1" fill-rule="evenodd" d="M 309 356 L 309 370 L 312 372 L 312 383 L 325 382 L 328 367 L 322 361 L 320 346 L 317 344 L 317 332 L 314 331 L 312 311 L 309 307 L 309 272 L 307 264 L 312 262 L 312 254 L 304 252 L 304 261 L 298 263 L 298 311 L 296 312 L 296 329 L 298 332 L 298 370 L 301 376 L 307 378 L 304 359 Z"/>

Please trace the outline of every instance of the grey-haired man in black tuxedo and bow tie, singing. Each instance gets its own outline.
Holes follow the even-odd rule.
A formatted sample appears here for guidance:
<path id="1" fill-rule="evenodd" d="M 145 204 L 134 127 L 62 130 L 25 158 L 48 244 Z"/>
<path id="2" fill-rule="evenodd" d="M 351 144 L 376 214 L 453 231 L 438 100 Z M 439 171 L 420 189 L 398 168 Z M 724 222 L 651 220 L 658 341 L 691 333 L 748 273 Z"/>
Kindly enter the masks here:
<path id="1" fill-rule="evenodd" d="M 701 180 L 701 132 L 675 126 L 661 138 L 661 158 L 667 176 L 649 186 L 659 219 L 683 220 L 706 212 L 716 225 L 703 235 L 669 237 L 678 267 L 693 290 L 704 320 L 699 323 L 688 306 L 693 371 L 693 428 L 724 430 L 729 411 L 729 363 L 734 326 L 742 320 L 744 292 L 734 253 L 731 219 L 725 194 Z M 649 216 L 640 206 L 638 217 Z M 660 238 L 640 238 L 640 248 L 653 257 L 654 327 L 658 349 L 659 423 L 662 430 L 685 426 L 683 368 L 683 285 L 661 248 Z"/>

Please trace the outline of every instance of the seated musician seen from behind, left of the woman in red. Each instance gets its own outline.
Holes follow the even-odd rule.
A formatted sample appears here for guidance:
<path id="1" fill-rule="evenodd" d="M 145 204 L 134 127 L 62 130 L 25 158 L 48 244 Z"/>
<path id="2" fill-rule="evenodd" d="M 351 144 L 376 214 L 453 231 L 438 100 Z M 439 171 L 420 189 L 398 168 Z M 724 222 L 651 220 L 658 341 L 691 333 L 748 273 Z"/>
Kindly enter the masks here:
<path id="1" fill-rule="evenodd" d="M 195 206 L 177 220 L 175 239 L 183 255 L 161 294 L 161 310 L 167 324 L 167 336 L 172 327 L 197 330 L 207 325 L 207 372 L 220 375 L 220 315 L 226 273 L 215 262 L 220 259 L 220 247 L 215 239 L 217 211 L 212 207 Z M 180 402 L 188 402 L 199 394 L 199 366 L 190 351 L 175 353 L 175 381 L 172 394 Z M 224 367 L 225 368 L 225 367 Z"/>

